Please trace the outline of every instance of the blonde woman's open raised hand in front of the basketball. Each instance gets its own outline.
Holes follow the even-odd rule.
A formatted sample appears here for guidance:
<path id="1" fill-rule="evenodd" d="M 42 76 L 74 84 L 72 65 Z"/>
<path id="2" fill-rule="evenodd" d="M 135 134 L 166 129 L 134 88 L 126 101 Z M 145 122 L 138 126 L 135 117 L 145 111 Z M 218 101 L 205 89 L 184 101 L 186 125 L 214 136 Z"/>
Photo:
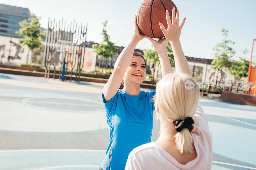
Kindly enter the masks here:
<path id="1" fill-rule="evenodd" d="M 181 25 L 179 26 L 179 19 L 180 19 L 179 11 L 177 11 L 177 17 L 176 17 L 175 8 L 172 8 L 172 22 L 171 22 L 171 18 L 168 10 L 165 11 L 165 15 L 166 15 L 166 21 L 168 24 L 167 30 L 164 28 L 164 25 L 161 22 L 158 23 L 160 25 L 160 29 L 164 33 L 164 37 L 171 43 L 179 42 L 181 29 L 185 23 L 186 18 L 183 19 Z"/>

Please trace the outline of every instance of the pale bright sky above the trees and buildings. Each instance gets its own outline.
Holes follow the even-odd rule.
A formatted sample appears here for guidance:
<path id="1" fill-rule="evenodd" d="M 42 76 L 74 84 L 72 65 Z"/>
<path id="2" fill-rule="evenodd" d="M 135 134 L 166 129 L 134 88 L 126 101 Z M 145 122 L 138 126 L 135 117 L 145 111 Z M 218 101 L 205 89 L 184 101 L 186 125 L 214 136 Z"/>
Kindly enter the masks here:
<path id="1" fill-rule="evenodd" d="M 102 23 L 108 20 L 107 31 L 116 46 L 126 46 L 134 30 L 134 15 L 142 0 L 0 0 L 8 4 L 28 8 L 41 17 L 40 24 L 47 28 L 48 18 L 67 23 L 75 19 L 78 25 L 88 23 L 87 41 L 100 43 Z M 222 28 L 235 42 L 235 57 L 251 58 L 252 41 L 256 39 L 256 0 L 173 0 L 180 11 L 180 20 L 187 17 L 180 42 L 186 56 L 213 58 L 212 48 L 220 42 Z M 181 22 L 180 22 L 181 23 Z M 136 48 L 152 48 L 148 39 L 141 40 Z M 243 54 L 245 48 L 247 54 Z M 255 51 L 255 50 L 254 50 Z M 256 54 L 256 51 L 255 53 Z"/>

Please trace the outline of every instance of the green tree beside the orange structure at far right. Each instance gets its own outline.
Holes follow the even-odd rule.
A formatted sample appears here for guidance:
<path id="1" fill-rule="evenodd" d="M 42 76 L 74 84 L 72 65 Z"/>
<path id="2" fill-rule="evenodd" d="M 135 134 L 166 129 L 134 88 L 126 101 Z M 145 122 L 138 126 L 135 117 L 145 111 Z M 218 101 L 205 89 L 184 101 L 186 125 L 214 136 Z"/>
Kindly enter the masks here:
<path id="1" fill-rule="evenodd" d="M 244 54 L 248 52 L 247 49 L 245 49 Z M 231 67 L 228 68 L 228 71 L 230 74 L 235 75 L 239 80 L 242 77 L 247 77 L 248 70 L 249 70 L 249 64 L 250 61 L 246 60 L 243 57 L 239 57 L 239 60 L 233 60 L 231 62 Z"/>

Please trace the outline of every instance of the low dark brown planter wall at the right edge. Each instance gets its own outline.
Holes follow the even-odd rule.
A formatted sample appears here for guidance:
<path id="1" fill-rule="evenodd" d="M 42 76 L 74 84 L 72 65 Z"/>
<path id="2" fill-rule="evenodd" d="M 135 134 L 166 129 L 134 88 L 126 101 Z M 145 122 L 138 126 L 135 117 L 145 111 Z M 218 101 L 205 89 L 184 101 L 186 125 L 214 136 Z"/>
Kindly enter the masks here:
<path id="1" fill-rule="evenodd" d="M 222 91 L 220 100 L 223 102 L 256 106 L 256 95 Z"/>

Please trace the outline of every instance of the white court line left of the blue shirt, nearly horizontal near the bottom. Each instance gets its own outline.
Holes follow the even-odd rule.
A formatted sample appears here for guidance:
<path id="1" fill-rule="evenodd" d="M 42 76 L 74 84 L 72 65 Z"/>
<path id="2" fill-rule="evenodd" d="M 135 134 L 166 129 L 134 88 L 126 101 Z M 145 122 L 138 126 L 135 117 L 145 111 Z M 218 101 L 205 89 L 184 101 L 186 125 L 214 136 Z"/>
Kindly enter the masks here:
<path id="1" fill-rule="evenodd" d="M 88 151 L 88 152 L 106 152 L 106 150 L 97 149 L 17 149 L 17 150 L 0 150 L 0 152 L 31 152 L 31 151 Z"/>

